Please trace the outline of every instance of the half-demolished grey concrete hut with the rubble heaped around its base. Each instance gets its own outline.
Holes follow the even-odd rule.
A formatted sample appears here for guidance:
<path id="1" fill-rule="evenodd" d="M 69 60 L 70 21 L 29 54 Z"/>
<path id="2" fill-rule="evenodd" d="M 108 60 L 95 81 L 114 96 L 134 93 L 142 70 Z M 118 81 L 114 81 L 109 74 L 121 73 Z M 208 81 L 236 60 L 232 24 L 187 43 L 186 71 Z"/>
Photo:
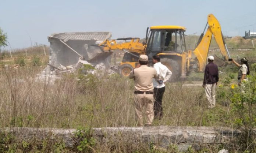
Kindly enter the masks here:
<path id="1" fill-rule="evenodd" d="M 110 32 L 75 32 L 54 33 L 48 37 L 50 42 L 50 57 L 48 66 L 36 81 L 54 83 L 63 73 L 72 73 L 83 64 L 89 64 L 95 70 L 86 71 L 96 74 L 106 72 L 113 74 L 118 71 L 115 66 L 110 67 L 111 52 L 103 52 L 98 44 L 111 37 Z"/>

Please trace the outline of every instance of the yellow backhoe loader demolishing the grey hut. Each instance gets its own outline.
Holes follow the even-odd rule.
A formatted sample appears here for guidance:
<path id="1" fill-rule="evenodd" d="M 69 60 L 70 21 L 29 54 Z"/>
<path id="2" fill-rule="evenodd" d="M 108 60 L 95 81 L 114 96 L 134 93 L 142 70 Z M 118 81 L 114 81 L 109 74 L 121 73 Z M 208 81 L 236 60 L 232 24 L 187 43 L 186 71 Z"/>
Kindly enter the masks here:
<path id="1" fill-rule="evenodd" d="M 126 52 L 119 68 L 119 73 L 123 76 L 128 76 L 131 70 L 135 68 L 138 64 L 139 55 L 147 55 L 149 64 L 152 64 L 152 56 L 159 55 L 161 63 L 173 72 L 171 77 L 173 81 L 179 77 L 185 78 L 191 67 L 195 68 L 195 63 L 198 71 L 202 72 L 204 70 L 212 35 L 220 48 L 223 56 L 221 59 L 223 61 L 230 59 L 221 33 L 220 23 L 213 14 L 208 15 L 206 27 L 206 33 L 204 34 L 204 30 L 199 38 L 198 45 L 193 51 L 196 57 L 194 60 L 191 58 L 192 51 L 186 50 L 184 34 L 186 28 L 182 26 L 152 26 L 149 32 L 149 28 L 147 28 L 145 43 L 139 42 L 139 38 L 118 38 L 116 40 L 105 40 L 99 46 L 103 52 L 110 52 L 115 49 Z M 118 44 L 117 40 L 124 40 L 125 42 Z"/>

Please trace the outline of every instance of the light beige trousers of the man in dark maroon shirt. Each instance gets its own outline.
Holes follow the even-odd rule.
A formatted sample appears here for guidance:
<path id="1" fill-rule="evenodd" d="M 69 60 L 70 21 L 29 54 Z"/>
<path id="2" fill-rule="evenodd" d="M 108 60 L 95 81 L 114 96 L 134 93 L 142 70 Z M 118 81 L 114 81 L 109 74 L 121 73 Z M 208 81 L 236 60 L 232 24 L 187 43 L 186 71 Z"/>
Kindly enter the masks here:
<path id="1" fill-rule="evenodd" d="M 206 94 L 207 100 L 209 102 L 209 107 L 215 106 L 215 101 L 216 101 L 215 100 L 215 88 L 216 88 L 216 83 L 205 85 L 205 94 Z"/>

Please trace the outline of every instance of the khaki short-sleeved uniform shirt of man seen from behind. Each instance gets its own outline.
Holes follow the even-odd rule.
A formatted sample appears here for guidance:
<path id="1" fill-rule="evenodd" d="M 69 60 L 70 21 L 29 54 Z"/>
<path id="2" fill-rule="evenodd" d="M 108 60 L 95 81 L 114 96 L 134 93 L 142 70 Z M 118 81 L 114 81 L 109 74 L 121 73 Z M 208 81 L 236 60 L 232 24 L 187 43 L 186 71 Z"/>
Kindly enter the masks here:
<path id="1" fill-rule="evenodd" d="M 135 91 L 153 92 L 153 78 L 158 79 L 159 77 L 153 67 L 142 65 L 141 67 L 132 70 L 129 78 L 134 79 Z"/>

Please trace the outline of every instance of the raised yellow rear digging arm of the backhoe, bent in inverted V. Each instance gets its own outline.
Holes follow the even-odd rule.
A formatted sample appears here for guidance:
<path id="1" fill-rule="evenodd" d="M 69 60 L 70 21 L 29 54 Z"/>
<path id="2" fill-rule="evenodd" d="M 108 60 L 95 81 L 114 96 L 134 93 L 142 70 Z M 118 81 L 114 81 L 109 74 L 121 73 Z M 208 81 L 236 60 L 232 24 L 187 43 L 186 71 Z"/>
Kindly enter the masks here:
<path id="1" fill-rule="evenodd" d="M 214 36 L 219 48 L 221 55 L 223 56 L 223 60 L 228 61 L 230 59 L 230 55 L 225 45 L 223 35 L 221 33 L 221 27 L 218 20 L 215 18 L 213 14 L 208 15 L 208 29 L 203 37 L 199 38 L 199 42 L 193 53 L 196 55 L 199 63 L 199 71 L 203 71 L 206 63 L 207 56 L 209 52 L 209 47 L 211 43 L 212 35 Z M 207 25 L 206 25 L 207 26 Z"/>

